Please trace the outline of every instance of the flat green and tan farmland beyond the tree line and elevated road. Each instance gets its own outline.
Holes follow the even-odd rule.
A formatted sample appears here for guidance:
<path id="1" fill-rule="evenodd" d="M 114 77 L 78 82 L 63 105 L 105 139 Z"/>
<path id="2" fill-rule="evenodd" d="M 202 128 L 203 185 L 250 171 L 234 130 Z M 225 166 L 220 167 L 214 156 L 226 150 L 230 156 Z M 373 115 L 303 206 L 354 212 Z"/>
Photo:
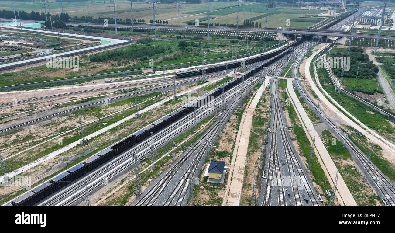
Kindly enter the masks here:
<path id="1" fill-rule="evenodd" d="M 228 23 L 236 24 L 237 16 L 236 2 L 211 2 L 210 3 L 210 23 Z M 243 24 L 245 19 L 252 18 L 252 21 L 265 23 L 266 4 L 265 3 L 239 3 L 239 25 Z M 62 8 L 58 2 L 49 2 L 46 5 L 51 9 L 51 14 L 60 14 Z M 95 0 L 95 2 L 71 2 L 63 3 L 64 12 L 74 16 L 90 16 L 98 17 L 113 17 L 113 4 L 109 0 Z M 44 11 L 43 3 L 38 1 L 18 2 L 18 10 L 30 11 Z M 118 19 L 130 19 L 130 2 L 126 0 L 119 0 L 116 2 L 116 12 Z M 10 2 L 0 1 L 0 10 L 11 10 Z M 311 25 L 324 20 L 324 17 L 309 19 L 319 13 L 325 11 L 307 10 L 295 7 L 280 7 L 268 9 L 268 25 L 267 27 L 286 27 L 286 20 L 291 22 L 290 27 L 307 28 Z M 188 21 L 195 21 L 195 19 L 204 19 L 208 15 L 208 4 L 181 4 L 181 18 L 177 19 L 177 4 L 174 3 L 156 3 L 155 18 L 162 21 L 168 21 L 170 25 L 185 25 Z M 133 18 L 144 19 L 149 22 L 152 19 L 152 4 L 145 2 L 133 2 Z M 202 21 L 202 20 L 201 20 Z"/>

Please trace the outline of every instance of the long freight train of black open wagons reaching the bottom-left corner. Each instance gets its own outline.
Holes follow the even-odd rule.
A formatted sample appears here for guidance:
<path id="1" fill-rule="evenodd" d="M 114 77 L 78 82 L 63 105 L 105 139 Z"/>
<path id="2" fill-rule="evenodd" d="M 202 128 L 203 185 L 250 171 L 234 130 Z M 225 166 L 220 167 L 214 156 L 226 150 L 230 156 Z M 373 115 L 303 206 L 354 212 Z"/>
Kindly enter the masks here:
<path id="1" fill-rule="evenodd" d="M 295 42 L 295 45 L 300 44 L 301 42 Z M 294 46 L 295 46 L 294 45 Z M 71 169 L 67 170 L 52 178 L 46 183 L 41 184 L 40 186 L 28 191 L 27 193 L 17 197 L 11 203 L 7 205 L 14 205 L 14 206 L 26 206 L 26 205 L 34 205 L 44 197 L 48 196 L 51 193 L 63 188 L 64 186 L 70 184 L 73 180 L 80 178 L 84 174 L 90 172 L 91 170 L 95 169 L 96 167 L 102 165 L 103 163 L 107 162 L 111 158 L 129 150 L 132 146 L 138 144 L 139 142 L 143 141 L 144 139 L 148 138 L 151 133 L 155 134 L 170 125 L 171 123 L 178 121 L 182 117 L 186 116 L 188 113 L 194 111 L 195 108 L 200 108 L 207 104 L 207 99 L 215 99 L 219 95 L 224 92 L 229 91 L 232 87 L 235 87 L 237 84 L 241 83 L 242 81 L 247 80 L 248 78 L 254 76 L 257 72 L 259 72 L 263 67 L 267 67 L 270 64 L 277 61 L 280 57 L 284 56 L 286 53 L 290 53 L 293 51 L 294 47 L 288 47 L 288 49 L 277 53 L 274 57 L 266 59 L 263 63 L 251 68 L 250 70 L 244 72 L 244 74 L 240 74 L 236 78 L 220 85 L 219 87 L 213 89 L 206 95 L 203 95 L 199 99 L 194 100 L 190 104 L 186 104 L 182 108 L 172 112 L 168 116 L 162 117 L 158 121 L 155 121 L 151 125 L 141 129 L 140 131 L 132 134 L 128 138 L 114 144 L 113 146 L 99 152 L 92 157 L 86 159 L 83 163 L 79 163 L 78 165 L 72 167 Z M 143 159 L 141 159 L 143 160 Z"/>

